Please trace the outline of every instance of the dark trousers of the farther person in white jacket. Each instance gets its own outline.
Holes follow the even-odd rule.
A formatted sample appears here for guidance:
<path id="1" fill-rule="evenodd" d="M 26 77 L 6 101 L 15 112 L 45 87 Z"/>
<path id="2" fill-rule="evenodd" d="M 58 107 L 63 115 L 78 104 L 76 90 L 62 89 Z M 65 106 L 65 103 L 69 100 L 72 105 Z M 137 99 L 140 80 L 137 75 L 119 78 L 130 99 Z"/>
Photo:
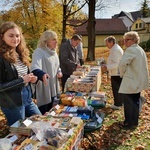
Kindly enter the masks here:
<path id="1" fill-rule="evenodd" d="M 115 106 L 122 106 L 123 103 L 122 94 L 118 93 L 121 81 L 122 78 L 120 78 L 120 76 L 111 76 L 111 86 Z"/>

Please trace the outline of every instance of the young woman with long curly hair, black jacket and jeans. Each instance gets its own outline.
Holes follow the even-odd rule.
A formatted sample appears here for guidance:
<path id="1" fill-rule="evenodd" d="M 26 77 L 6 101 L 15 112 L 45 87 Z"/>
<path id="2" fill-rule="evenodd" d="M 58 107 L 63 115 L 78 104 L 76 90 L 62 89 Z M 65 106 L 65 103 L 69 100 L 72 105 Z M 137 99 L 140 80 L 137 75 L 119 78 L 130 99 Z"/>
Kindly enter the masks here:
<path id="1" fill-rule="evenodd" d="M 20 27 L 14 22 L 0 26 L 0 106 L 8 125 L 31 115 L 41 114 L 32 101 L 29 50 Z"/>

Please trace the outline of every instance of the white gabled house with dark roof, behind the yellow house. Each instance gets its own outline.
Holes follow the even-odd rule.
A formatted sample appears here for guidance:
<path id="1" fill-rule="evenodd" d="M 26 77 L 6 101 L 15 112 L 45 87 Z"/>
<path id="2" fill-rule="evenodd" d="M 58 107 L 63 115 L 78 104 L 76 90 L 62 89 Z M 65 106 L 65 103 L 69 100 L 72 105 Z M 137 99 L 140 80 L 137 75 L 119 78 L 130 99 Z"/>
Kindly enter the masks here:
<path id="1" fill-rule="evenodd" d="M 137 20 L 137 18 L 141 18 L 141 13 L 140 11 L 134 12 L 121 11 L 119 14 L 115 14 L 114 16 L 112 16 L 112 18 L 122 19 L 123 23 L 127 27 L 127 30 L 130 31 L 134 21 Z"/>

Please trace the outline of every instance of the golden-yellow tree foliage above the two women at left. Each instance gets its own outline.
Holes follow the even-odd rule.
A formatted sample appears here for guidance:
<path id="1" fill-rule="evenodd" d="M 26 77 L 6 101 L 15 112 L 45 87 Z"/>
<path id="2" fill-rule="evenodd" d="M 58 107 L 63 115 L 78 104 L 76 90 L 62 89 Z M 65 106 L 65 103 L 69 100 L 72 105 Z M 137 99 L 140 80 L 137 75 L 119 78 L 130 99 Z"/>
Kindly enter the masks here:
<path id="1" fill-rule="evenodd" d="M 58 34 L 62 31 L 62 10 L 57 0 L 13 0 L 2 19 L 14 21 L 31 38 L 39 38 L 47 29 L 55 30 Z"/>

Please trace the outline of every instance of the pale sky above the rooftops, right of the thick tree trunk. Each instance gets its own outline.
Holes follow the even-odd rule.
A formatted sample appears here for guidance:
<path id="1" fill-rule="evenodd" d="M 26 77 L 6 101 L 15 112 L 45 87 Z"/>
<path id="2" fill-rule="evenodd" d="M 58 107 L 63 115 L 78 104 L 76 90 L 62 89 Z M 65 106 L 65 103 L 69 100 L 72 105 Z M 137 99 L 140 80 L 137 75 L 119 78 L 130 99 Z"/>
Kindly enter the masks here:
<path id="1" fill-rule="evenodd" d="M 115 14 L 119 14 L 121 11 L 133 12 L 138 11 L 141 8 L 141 2 L 144 0 L 118 0 L 116 6 L 111 5 L 103 11 L 96 11 L 96 18 L 111 18 Z"/>

